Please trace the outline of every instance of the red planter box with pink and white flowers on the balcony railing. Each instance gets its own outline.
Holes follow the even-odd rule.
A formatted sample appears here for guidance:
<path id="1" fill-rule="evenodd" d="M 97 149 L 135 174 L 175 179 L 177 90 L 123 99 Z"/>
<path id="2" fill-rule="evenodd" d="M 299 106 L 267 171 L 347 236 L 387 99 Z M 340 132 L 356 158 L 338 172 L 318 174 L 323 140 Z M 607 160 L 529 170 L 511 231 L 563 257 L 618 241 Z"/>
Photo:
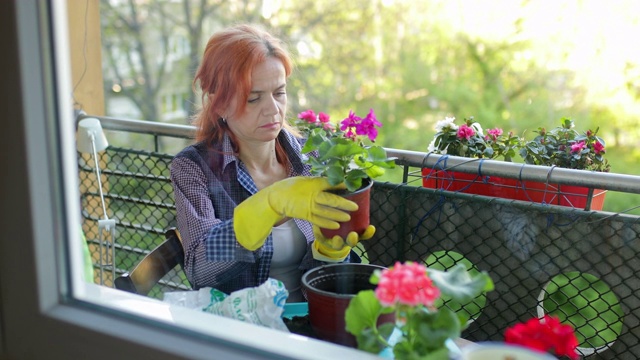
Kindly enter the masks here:
<path id="1" fill-rule="evenodd" d="M 429 145 L 429 152 L 479 159 L 512 161 L 519 153 L 526 164 L 558 166 L 569 169 L 609 171 L 604 158 L 605 142 L 597 136 L 598 130 L 580 134 L 574 130 L 571 119 L 561 119 L 561 125 L 552 130 L 539 128 L 538 135 L 524 141 L 513 133 L 503 134 L 495 128 L 483 133 L 473 118 L 465 119 L 462 125 L 455 118 L 445 118 L 436 124 L 436 135 Z M 520 181 L 496 176 L 481 176 L 463 172 L 423 169 L 423 185 L 429 188 L 502 197 L 586 208 L 588 192 L 585 187 L 560 186 L 534 181 Z M 601 210 L 604 203 L 603 190 L 594 190 L 591 209 Z"/>

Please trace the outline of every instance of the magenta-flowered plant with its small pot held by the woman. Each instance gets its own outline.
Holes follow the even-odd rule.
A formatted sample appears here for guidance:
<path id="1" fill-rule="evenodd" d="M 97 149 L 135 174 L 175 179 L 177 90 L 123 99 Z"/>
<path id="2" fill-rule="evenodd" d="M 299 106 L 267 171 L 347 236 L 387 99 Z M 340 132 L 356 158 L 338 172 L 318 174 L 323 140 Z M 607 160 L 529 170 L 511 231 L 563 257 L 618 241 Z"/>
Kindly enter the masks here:
<path id="1" fill-rule="evenodd" d="M 313 110 L 298 114 L 296 127 L 306 137 L 303 154 L 314 153 L 305 160 L 311 173 L 324 176 L 331 185 L 344 184 L 345 192 L 338 192 L 358 203 L 351 214 L 354 225 L 343 223 L 338 230 L 321 229 L 324 236 L 346 238 L 350 231 L 362 233 L 369 225 L 369 194 L 373 179 L 384 175 L 385 169 L 395 167 L 395 159 L 387 157 L 382 146 L 374 145 L 382 124 L 373 109 L 364 117 L 349 111 L 349 116 L 336 126 L 330 116 Z"/>

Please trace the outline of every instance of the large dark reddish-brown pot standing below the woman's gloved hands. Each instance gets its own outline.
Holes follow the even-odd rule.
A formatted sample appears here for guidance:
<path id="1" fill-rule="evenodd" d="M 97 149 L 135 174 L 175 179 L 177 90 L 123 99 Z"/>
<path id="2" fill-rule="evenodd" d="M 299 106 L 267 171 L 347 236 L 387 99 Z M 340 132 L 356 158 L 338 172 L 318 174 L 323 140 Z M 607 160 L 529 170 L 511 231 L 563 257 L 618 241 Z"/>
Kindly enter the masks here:
<path id="1" fill-rule="evenodd" d="M 339 263 L 324 265 L 302 276 L 302 287 L 309 302 L 309 322 L 315 333 L 326 341 L 356 347 L 355 336 L 346 330 L 345 311 L 360 290 L 373 290 L 369 278 L 375 270 L 385 269 L 373 264 Z M 380 316 L 378 324 L 395 321 L 395 314 Z"/>

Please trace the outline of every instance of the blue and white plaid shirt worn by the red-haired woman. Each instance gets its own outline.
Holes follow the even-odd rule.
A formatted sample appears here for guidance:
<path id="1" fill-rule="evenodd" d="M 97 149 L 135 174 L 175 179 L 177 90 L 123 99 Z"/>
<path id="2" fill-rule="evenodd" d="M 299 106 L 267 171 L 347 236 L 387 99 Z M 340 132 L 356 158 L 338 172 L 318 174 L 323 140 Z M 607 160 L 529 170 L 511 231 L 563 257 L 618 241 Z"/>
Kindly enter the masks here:
<path id="1" fill-rule="evenodd" d="M 291 161 L 289 176 L 310 176 L 303 164 L 300 140 L 282 130 L 278 135 Z M 171 181 L 177 208 L 178 230 L 185 253 L 185 273 L 194 289 L 213 287 L 230 293 L 258 286 L 269 277 L 273 237 L 249 251 L 236 240 L 233 210 L 257 192 L 251 175 L 237 156 L 231 140 L 207 147 L 200 142 L 188 146 L 171 163 Z M 260 216 L 260 214 L 256 214 Z M 307 252 L 300 275 L 322 262 L 313 259 L 313 231 L 307 221 L 295 219 L 307 239 Z M 347 260 L 348 261 L 348 260 Z"/>

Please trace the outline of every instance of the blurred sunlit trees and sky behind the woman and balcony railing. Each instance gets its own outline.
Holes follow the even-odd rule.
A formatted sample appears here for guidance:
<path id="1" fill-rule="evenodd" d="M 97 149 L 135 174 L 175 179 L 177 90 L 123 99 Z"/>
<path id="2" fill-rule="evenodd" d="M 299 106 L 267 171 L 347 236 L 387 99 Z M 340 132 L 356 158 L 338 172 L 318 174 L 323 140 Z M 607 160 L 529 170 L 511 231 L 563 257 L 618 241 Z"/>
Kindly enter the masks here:
<path id="1" fill-rule="evenodd" d="M 381 145 L 426 151 L 445 116 L 525 138 L 566 116 L 600 128 L 613 172 L 640 175 L 635 0 L 102 0 L 101 17 L 108 115 L 189 123 L 209 36 L 250 22 L 294 55 L 289 117 L 374 108 Z M 638 203 L 611 193 L 605 210 Z"/>

